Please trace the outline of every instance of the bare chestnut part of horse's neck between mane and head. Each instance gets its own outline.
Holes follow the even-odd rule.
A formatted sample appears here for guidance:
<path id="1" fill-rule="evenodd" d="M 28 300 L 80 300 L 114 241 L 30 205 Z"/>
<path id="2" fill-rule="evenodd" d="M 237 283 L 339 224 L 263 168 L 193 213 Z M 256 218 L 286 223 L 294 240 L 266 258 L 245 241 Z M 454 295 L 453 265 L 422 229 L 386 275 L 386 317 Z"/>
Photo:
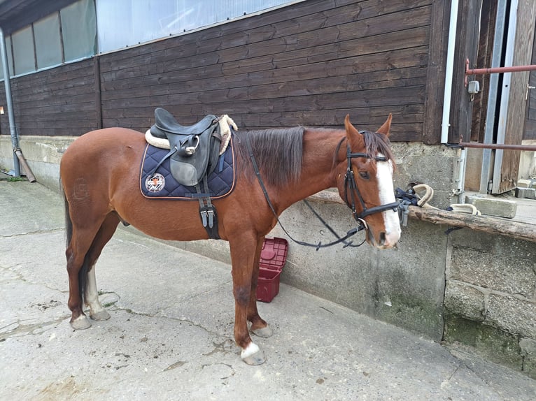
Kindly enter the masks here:
<path id="1" fill-rule="evenodd" d="M 283 208 L 318 191 L 337 186 L 333 158 L 344 134 L 342 130 L 306 130 L 304 132 L 302 173 L 291 188 L 285 189 L 285 196 L 281 199 Z"/>

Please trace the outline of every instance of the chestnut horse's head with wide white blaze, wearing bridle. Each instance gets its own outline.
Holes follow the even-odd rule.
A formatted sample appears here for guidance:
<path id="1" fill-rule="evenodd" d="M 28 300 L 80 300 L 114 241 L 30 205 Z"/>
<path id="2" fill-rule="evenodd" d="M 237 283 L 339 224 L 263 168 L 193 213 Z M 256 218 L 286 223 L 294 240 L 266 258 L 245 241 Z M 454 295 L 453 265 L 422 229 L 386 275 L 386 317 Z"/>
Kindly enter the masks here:
<path id="1" fill-rule="evenodd" d="M 337 166 L 341 198 L 365 226 L 367 242 L 380 249 L 394 247 L 400 238 L 393 154 L 388 140 L 390 123 L 391 115 L 375 133 L 358 131 L 346 115 L 345 156 Z"/>

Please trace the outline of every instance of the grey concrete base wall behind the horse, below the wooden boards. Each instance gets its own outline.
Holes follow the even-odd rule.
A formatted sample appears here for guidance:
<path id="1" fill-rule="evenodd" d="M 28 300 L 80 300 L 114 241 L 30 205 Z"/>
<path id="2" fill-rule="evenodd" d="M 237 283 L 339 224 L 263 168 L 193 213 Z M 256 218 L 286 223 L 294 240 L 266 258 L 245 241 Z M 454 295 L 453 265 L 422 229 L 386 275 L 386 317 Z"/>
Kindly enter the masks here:
<path id="1" fill-rule="evenodd" d="M 59 189 L 58 163 L 72 138 L 22 137 L 20 146 L 38 182 Z M 394 143 L 395 186 L 425 182 L 432 205 L 455 203 L 458 151 L 419 143 Z M 13 168 L 9 136 L 0 136 L 0 166 Z M 344 205 L 313 202 L 338 233 L 352 227 Z M 303 203 L 281 216 L 290 235 L 328 242 L 332 235 Z M 467 229 L 410 220 L 396 249 L 368 245 L 315 251 L 290 242 L 281 281 L 435 341 L 463 344 L 497 363 L 536 377 L 536 246 Z M 129 230 L 135 231 L 129 227 Z M 272 236 L 285 238 L 280 228 Z M 357 235 L 355 243 L 362 240 Z M 230 262 L 227 242 L 171 245 Z"/>

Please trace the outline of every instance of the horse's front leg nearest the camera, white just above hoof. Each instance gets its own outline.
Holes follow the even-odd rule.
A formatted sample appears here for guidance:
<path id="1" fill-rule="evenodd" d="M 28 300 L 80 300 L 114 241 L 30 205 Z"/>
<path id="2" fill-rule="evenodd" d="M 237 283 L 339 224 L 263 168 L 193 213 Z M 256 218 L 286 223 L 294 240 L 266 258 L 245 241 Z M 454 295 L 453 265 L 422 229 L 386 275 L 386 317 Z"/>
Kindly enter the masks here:
<path id="1" fill-rule="evenodd" d="M 247 323 L 248 307 L 251 304 L 251 289 L 254 284 L 253 271 L 258 270 L 258 261 L 255 263 L 255 256 L 258 254 L 258 241 L 255 235 L 246 233 L 242 233 L 239 238 L 230 238 L 229 240 L 234 294 L 234 340 L 242 349 L 242 360 L 248 365 L 260 365 L 265 362 L 264 353 L 251 340 Z M 256 306 L 253 314 L 258 316 Z"/>

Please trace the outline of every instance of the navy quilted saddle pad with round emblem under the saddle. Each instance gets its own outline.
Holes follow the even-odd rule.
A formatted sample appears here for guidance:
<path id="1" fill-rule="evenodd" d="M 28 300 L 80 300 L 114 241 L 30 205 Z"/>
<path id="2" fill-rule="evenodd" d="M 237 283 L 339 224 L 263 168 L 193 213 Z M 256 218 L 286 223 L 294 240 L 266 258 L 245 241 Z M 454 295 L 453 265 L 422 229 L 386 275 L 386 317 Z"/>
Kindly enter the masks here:
<path id="1" fill-rule="evenodd" d="M 153 199 L 175 199 L 178 201 L 197 201 L 200 196 L 195 187 L 187 187 L 178 184 L 169 170 L 169 159 L 162 163 L 162 166 L 149 179 L 148 173 L 169 152 L 153 145 L 147 145 L 140 168 L 140 189 L 141 194 L 146 198 Z M 234 189 L 234 149 L 232 140 L 227 150 L 220 155 L 218 166 L 208 177 L 209 196 L 211 198 L 223 198 L 229 195 Z M 204 184 L 199 183 L 201 191 L 205 191 Z"/>

